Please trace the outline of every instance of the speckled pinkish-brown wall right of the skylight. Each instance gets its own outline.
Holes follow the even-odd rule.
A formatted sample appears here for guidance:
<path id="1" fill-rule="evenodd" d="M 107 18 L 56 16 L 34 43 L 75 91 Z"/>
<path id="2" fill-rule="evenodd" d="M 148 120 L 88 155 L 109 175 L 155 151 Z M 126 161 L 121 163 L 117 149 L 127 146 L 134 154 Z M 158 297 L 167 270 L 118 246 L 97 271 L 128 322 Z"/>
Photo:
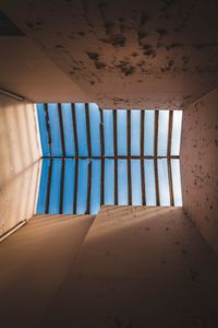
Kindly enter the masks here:
<path id="1" fill-rule="evenodd" d="M 183 204 L 218 253 L 218 89 L 184 110 Z"/>

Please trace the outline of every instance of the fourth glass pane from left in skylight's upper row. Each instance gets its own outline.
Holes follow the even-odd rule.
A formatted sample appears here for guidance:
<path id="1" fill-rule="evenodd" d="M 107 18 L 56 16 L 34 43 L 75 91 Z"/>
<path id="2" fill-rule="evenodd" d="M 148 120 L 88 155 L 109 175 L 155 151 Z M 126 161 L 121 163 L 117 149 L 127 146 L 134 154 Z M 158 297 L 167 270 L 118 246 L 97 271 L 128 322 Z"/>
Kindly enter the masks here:
<path id="1" fill-rule="evenodd" d="M 78 140 L 78 156 L 87 156 L 87 131 L 86 131 L 86 117 L 85 117 L 85 104 L 75 104 L 75 117 L 76 117 L 76 131 Z"/>

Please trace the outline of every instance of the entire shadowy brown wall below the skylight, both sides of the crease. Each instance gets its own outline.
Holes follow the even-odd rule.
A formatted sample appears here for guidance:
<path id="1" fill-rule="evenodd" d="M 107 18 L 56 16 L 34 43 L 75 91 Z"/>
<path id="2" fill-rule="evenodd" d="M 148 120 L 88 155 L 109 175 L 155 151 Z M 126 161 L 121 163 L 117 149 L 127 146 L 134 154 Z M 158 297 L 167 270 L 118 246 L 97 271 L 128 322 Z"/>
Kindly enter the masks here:
<path id="1" fill-rule="evenodd" d="M 216 328 L 218 259 L 181 208 L 29 220 L 0 247 L 2 327 Z"/>

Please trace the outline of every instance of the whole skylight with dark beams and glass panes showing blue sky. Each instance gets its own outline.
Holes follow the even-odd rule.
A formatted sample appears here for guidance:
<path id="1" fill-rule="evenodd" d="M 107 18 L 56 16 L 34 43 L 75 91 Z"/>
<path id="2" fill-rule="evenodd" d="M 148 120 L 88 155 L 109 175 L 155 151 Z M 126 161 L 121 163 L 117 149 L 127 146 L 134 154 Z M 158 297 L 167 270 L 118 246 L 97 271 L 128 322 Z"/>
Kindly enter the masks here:
<path id="1" fill-rule="evenodd" d="M 43 149 L 37 213 L 101 204 L 182 206 L 182 110 L 37 104 Z"/>

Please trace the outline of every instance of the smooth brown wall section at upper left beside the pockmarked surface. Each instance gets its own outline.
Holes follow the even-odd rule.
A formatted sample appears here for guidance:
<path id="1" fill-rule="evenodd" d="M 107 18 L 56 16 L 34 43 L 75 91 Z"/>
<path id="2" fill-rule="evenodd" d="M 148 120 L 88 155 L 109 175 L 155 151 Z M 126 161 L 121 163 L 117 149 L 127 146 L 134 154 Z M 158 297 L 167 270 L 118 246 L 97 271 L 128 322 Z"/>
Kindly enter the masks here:
<path id="1" fill-rule="evenodd" d="M 88 98 L 26 36 L 1 36 L 0 85 L 35 103 L 85 102 Z"/>

